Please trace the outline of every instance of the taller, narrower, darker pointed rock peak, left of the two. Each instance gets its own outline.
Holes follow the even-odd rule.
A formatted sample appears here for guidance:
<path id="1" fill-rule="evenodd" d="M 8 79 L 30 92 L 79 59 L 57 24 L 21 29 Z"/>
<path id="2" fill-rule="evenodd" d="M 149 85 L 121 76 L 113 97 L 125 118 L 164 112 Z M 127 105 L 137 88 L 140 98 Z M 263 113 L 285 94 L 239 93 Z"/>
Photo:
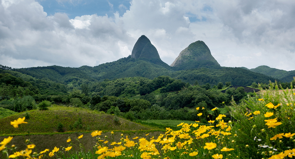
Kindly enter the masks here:
<path id="1" fill-rule="evenodd" d="M 151 44 L 151 41 L 144 35 L 142 35 L 137 42 L 135 43 L 131 57 L 138 58 L 147 58 L 147 59 L 160 59 L 159 53 L 154 45 Z"/>

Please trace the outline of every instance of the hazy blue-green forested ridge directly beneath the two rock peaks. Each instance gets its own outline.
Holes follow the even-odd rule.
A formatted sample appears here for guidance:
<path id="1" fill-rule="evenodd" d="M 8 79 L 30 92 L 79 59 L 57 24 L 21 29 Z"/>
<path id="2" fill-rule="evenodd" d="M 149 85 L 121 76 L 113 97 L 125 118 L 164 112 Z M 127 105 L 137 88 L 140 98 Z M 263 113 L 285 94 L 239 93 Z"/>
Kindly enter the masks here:
<path id="1" fill-rule="evenodd" d="M 101 82 L 106 79 L 112 80 L 116 78 L 136 76 L 149 79 L 153 79 L 158 76 L 170 76 L 190 84 L 194 84 L 195 81 L 197 81 L 201 85 L 206 83 L 216 85 L 218 82 L 225 83 L 230 81 L 235 85 L 250 86 L 253 82 L 269 83 L 269 80 L 276 80 L 275 78 L 265 76 L 260 73 L 254 73 L 249 70 L 241 68 L 216 67 L 216 65 L 211 63 L 211 61 L 208 61 L 207 63 L 206 61 L 200 61 L 199 65 L 195 63 L 199 68 L 172 70 L 171 67 L 167 68 L 168 65 L 156 65 L 148 61 L 148 59 L 144 61 L 144 59 L 134 59 L 129 56 L 95 67 L 82 66 L 80 68 L 63 68 L 60 66 L 48 66 L 14 70 L 35 78 L 46 77 L 53 80 L 58 79 L 55 81 L 67 84 L 70 89 L 79 87 L 82 83 Z M 74 73 L 74 70 L 77 72 Z M 65 72 L 70 73 L 67 74 Z"/>

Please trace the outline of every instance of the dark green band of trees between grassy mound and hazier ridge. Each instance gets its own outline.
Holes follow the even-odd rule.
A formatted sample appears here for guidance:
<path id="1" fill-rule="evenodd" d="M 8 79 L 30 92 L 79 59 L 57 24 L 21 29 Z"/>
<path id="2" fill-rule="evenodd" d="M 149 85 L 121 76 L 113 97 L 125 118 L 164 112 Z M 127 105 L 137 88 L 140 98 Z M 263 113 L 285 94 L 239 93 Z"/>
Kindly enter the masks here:
<path id="1" fill-rule="evenodd" d="M 243 88 L 223 94 L 217 86 L 191 86 L 169 76 L 159 76 L 153 80 L 130 77 L 82 83 L 79 90 L 68 92 L 65 85 L 49 79 L 35 79 L 17 72 L 16 76 L 23 77 L 20 78 L 10 73 L 0 73 L 0 106 L 16 112 L 36 109 L 52 102 L 95 109 L 129 120 L 196 120 L 197 107 L 212 109 L 220 107 L 222 103 L 229 104 L 231 96 L 237 101 L 246 96 Z"/>

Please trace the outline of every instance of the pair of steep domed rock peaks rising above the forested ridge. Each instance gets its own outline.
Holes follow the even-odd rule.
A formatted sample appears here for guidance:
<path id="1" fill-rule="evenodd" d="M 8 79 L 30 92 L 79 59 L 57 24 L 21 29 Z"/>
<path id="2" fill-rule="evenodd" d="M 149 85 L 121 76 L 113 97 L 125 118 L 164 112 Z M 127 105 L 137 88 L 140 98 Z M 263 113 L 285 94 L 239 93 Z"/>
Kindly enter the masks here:
<path id="1" fill-rule="evenodd" d="M 151 41 L 142 35 L 135 43 L 132 54 L 132 58 L 139 59 L 145 58 L 149 60 L 161 61 L 159 53 Z M 218 62 L 211 55 L 208 46 L 203 41 L 196 41 L 191 43 L 187 48 L 182 50 L 171 67 L 183 67 L 183 66 L 200 66 L 200 65 L 217 65 Z"/>

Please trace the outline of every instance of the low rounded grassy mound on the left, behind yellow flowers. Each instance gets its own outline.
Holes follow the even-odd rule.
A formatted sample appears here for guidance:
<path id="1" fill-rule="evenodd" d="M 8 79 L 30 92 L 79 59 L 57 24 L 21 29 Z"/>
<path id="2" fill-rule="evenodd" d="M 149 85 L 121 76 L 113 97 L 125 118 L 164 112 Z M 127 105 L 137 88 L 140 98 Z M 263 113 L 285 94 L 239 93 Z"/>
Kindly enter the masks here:
<path id="1" fill-rule="evenodd" d="M 21 124 L 18 128 L 10 125 L 19 117 L 26 117 L 28 124 Z M 26 133 L 54 133 L 71 131 L 120 131 L 120 130 L 151 130 L 152 127 L 143 126 L 116 116 L 102 114 L 82 108 L 72 108 L 54 105 L 49 110 L 31 110 L 0 119 L 0 134 Z"/>

